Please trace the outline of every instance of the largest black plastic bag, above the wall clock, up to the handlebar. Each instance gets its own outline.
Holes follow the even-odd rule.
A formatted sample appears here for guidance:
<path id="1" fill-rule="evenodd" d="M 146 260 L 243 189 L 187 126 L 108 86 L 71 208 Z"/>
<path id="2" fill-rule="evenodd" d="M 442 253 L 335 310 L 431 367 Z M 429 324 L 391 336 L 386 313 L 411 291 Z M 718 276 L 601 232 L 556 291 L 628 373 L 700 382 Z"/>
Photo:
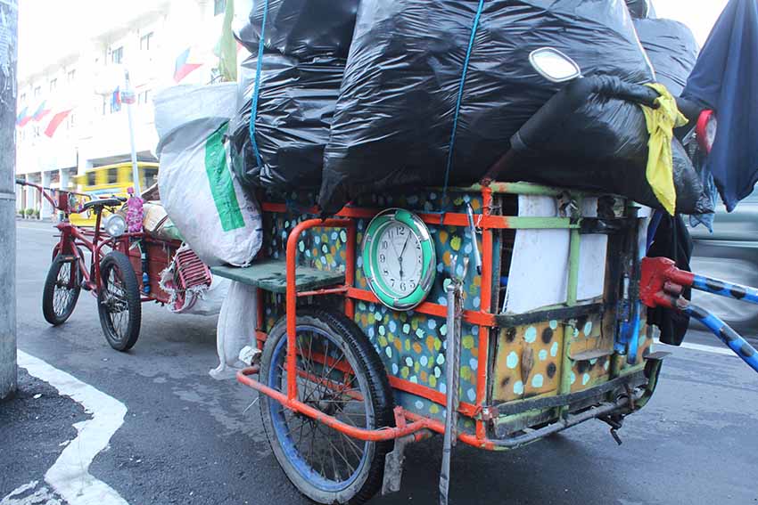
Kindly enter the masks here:
<path id="1" fill-rule="evenodd" d="M 560 89 L 531 68 L 534 49 L 556 47 L 587 76 L 606 73 L 637 84 L 652 80 L 629 12 L 619 1 L 485 2 L 448 164 L 478 5 L 474 0 L 360 4 L 325 150 L 319 204 L 326 212 L 365 192 L 440 185 L 446 172 L 451 184 L 474 183 L 507 151 L 518 127 Z"/>

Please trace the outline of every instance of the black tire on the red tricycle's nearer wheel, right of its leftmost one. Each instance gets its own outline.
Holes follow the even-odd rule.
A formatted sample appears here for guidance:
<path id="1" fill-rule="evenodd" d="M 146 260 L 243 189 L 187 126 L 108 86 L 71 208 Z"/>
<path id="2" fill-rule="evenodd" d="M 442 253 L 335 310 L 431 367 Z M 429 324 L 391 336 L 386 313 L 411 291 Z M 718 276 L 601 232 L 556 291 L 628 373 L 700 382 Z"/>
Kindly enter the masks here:
<path id="1" fill-rule="evenodd" d="M 97 295 L 97 314 L 100 315 L 100 326 L 103 328 L 103 334 L 108 344 L 117 351 L 124 352 L 134 347 L 137 338 L 139 338 L 140 325 L 142 324 L 142 300 L 139 293 L 139 284 L 136 281 L 135 270 L 131 262 L 129 262 L 129 258 L 119 251 L 109 252 L 100 262 L 100 275 L 103 286 L 108 274 L 114 268 L 121 272 L 124 280 L 124 289 L 126 290 L 129 310 L 127 338 L 119 341 L 114 336 L 115 332 L 111 328 L 108 310 L 103 304 L 104 289 L 101 289 Z"/>

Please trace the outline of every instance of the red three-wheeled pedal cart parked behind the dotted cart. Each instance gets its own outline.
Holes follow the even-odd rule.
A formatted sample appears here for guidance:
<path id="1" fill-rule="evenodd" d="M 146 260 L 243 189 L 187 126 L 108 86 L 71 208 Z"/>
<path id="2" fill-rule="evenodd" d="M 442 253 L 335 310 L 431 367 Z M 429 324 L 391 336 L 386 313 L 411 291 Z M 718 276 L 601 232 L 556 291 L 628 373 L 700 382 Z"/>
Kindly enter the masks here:
<path id="1" fill-rule="evenodd" d="M 46 188 L 16 179 L 36 188 L 62 214 L 55 227 L 61 232 L 53 249 L 53 264 L 45 279 L 42 313 L 54 326 L 66 322 L 77 305 L 82 289 L 97 298 L 97 312 L 108 344 L 128 351 L 139 338 L 142 302 L 171 304 L 175 312 L 191 305 L 189 288 L 210 286 L 210 270 L 190 250 L 178 250 L 179 240 L 161 240 L 144 232 L 128 232 L 124 216 L 116 212 L 127 199 L 92 199 L 76 191 Z M 87 201 L 84 201 L 87 200 Z M 103 218 L 103 209 L 112 214 Z M 95 228 L 71 224 L 70 214 L 90 210 Z M 89 261 L 84 250 L 89 252 Z M 161 273 L 172 267 L 169 280 L 173 295 L 163 289 Z"/>

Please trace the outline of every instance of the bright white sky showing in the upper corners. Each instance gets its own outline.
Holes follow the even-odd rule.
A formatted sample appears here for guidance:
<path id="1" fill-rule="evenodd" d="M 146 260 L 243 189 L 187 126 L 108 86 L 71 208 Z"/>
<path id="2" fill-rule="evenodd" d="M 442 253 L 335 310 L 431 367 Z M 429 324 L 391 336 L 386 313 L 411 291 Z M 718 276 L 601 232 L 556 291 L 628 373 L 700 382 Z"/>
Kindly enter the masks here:
<path id="1" fill-rule="evenodd" d="M 190 0 L 185 0 L 190 1 Z M 703 45 L 727 0 L 653 0 L 658 17 L 680 20 Z M 19 0 L 19 75 L 74 52 L 99 24 L 156 0 Z"/>

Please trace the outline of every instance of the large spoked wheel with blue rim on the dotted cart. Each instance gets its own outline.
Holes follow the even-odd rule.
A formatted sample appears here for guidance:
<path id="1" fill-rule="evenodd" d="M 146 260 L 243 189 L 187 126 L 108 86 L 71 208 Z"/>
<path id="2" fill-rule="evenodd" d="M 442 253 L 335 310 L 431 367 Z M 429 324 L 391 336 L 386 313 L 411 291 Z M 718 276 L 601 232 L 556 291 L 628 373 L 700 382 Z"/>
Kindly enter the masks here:
<path id="1" fill-rule="evenodd" d="M 358 428 L 394 426 L 386 371 L 374 346 L 344 315 L 302 309 L 297 319 L 298 398 Z M 260 381 L 286 392 L 286 321 L 268 335 Z M 268 441 L 284 473 L 317 503 L 363 503 L 382 486 L 392 442 L 362 442 L 260 395 Z"/>

